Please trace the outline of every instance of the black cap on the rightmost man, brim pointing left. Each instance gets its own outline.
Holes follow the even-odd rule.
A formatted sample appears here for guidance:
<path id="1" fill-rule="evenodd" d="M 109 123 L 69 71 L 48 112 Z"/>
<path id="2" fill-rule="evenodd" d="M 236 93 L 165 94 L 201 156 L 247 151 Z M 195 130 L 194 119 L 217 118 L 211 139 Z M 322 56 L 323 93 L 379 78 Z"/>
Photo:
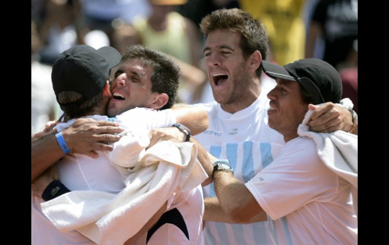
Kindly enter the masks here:
<path id="1" fill-rule="evenodd" d="M 301 59 L 284 66 L 262 61 L 262 68 L 269 77 L 274 79 L 281 78 L 300 83 L 315 105 L 341 101 L 341 76 L 325 61 L 313 58 Z"/>

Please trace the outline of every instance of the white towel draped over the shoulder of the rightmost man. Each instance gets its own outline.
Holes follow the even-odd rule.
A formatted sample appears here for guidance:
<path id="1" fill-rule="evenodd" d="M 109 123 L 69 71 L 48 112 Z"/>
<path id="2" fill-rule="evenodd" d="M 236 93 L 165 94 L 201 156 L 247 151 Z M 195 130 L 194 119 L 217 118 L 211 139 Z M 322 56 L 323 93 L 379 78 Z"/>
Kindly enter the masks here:
<path id="1" fill-rule="evenodd" d="M 342 102 L 343 106 L 353 108 L 349 99 Z M 341 130 L 332 133 L 309 131 L 307 124 L 312 113 L 311 110 L 307 112 L 299 125 L 298 134 L 312 138 L 316 144 L 317 155 L 325 166 L 351 183 L 353 207 L 358 217 L 358 135 Z"/>

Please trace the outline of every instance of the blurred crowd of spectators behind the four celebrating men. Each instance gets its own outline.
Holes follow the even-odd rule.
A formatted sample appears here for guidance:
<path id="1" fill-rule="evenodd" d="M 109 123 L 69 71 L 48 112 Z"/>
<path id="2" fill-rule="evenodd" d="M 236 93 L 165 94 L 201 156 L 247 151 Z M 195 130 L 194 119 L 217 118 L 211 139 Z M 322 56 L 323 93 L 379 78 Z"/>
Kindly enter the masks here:
<path id="1" fill-rule="evenodd" d="M 343 97 L 358 112 L 357 0 L 31 0 L 31 133 L 59 117 L 51 69 L 75 44 L 111 45 L 121 54 L 134 43 L 155 48 L 181 67 L 177 102 L 213 101 L 199 24 L 221 8 L 243 9 L 265 24 L 268 61 L 284 65 L 313 57 L 334 66 Z M 263 74 L 261 86 L 274 85 Z"/>

